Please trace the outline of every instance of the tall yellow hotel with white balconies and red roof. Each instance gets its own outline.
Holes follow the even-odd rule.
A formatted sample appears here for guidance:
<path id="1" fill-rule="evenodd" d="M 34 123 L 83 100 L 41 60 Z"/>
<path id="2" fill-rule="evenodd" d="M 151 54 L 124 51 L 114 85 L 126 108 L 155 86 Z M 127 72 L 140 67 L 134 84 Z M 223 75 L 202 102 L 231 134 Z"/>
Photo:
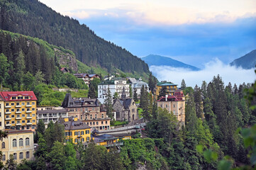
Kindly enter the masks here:
<path id="1" fill-rule="evenodd" d="M 33 91 L 1 91 L 5 129 L 35 130 L 36 101 Z"/>

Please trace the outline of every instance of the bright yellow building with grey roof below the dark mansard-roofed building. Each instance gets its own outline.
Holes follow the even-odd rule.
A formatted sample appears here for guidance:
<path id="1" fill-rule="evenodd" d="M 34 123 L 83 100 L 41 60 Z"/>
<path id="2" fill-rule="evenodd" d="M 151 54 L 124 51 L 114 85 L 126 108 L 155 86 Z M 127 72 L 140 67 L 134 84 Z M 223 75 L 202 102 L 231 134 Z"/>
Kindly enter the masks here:
<path id="1" fill-rule="evenodd" d="M 91 140 L 91 127 L 77 118 L 64 118 L 66 142 L 89 142 Z"/>

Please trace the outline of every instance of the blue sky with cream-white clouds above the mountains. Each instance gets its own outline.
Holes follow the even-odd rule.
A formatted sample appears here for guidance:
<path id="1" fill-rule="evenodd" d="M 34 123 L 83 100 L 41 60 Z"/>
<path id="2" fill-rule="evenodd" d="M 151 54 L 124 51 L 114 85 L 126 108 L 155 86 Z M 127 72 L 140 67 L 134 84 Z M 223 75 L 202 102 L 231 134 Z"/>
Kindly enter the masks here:
<path id="1" fill-rule="evenodd" d="M 231 70 L 228 63 L 256 49 L 255 0 L 40 1 L 138 57 L 172 57 L 203 71 L 221 63 Z"/>

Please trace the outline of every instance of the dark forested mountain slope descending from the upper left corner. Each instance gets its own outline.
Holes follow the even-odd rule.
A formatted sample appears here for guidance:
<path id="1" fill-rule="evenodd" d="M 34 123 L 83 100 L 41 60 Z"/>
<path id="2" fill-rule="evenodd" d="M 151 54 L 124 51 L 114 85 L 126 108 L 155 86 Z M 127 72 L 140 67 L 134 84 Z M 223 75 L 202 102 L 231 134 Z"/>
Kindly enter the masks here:
<path id="1" fill-rule="evenodd" d="M 148 65 L 122 47 L 99 38 L 77 20 L 62 16 L 38 0 L 0 0 L 0 29 L 41 38 L 72 50 L 84 64 L 123 72 L 149 73 Z"/>

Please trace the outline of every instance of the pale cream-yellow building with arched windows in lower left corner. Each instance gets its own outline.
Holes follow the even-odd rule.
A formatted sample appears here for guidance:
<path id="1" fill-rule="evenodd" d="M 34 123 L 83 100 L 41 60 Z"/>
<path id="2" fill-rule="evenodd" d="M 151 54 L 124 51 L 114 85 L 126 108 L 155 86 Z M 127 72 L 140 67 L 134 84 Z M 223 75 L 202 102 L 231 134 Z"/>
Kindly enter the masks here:
<path id="1" fill-rule="evenodd" d="M 2 152 L 2 162 L 10 158 L 13 154 L 14 159 L 19 164 L 23 159 L 32 160 L 34 158 L 34 140 L 31 130 L 5 130 L 8 137 L 0 140 L 0 150 Z"/>

